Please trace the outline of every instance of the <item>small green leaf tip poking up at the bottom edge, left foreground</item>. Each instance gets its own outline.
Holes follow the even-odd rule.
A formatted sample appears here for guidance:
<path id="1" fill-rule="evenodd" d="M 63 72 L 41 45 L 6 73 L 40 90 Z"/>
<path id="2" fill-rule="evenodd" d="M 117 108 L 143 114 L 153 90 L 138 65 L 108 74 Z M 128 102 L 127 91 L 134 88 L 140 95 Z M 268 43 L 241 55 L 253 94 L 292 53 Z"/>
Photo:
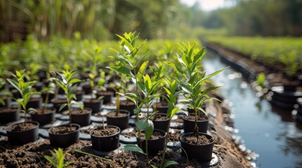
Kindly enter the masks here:
<path id="1" fill-rule="evenodd" d="M 51 155 L 54 158 L 51 158 L 49 155 L 44 155 L 44 158 L 53 165 L 55 168 L 64 168 L 68 165 L 72 164 L 74 161 L 64 162 L 65 153 L 63 153 L 63 150 L 61 148 L 58 148 L 58 150 L 54 149 L 54 152 L 51 151 Z"/>

